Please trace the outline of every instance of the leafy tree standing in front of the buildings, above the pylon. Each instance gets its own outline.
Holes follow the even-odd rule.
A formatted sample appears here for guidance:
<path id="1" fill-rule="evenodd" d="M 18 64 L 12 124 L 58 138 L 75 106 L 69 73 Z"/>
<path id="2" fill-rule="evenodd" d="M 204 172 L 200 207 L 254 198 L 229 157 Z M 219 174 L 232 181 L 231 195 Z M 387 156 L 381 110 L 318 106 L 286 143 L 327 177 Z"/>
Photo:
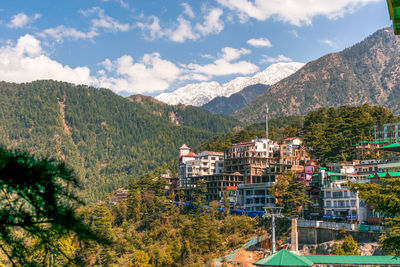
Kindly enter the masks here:
<path id="1" fill-rule="evenodd" d="M 306 185 L 298 181 L 295 173 L 287 172 L 276 178 L 276 183 L 271 187 L 271 194 L 275 197 L 276 204 L 283 207 L 282 213 L 287 217 L 299 217 L 302 208 L 311 203 L 306 194 Z"/>

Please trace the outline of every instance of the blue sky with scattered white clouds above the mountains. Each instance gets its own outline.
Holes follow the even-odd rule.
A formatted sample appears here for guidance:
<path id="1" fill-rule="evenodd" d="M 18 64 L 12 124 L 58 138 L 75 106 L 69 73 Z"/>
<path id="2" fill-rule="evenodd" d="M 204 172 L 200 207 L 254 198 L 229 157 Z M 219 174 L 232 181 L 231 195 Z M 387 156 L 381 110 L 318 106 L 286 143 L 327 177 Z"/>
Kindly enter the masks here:
<path id="1" fill-rule="evenodd" d="M 0 80 L 155 96 L 307 63 L 389 26 L 385 0 L 3 0 Z"/>

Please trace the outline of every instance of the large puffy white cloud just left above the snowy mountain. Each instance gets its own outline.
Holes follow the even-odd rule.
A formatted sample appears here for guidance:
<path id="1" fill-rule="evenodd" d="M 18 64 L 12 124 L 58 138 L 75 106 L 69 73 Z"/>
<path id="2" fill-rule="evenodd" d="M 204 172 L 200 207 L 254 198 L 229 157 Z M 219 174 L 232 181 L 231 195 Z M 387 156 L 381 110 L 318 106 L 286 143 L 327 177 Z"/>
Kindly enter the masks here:
<path id="1" fill-rule="evenodd" d="M 181 74 L 181 69 L 162 59 L 159 53 L 145 54 L 138 62 L 124 55 L 113 62 L 113 68 L 117 76 L 102 76 L 99 85 L 127 93 L 161 92 L 168 89 Z"/>

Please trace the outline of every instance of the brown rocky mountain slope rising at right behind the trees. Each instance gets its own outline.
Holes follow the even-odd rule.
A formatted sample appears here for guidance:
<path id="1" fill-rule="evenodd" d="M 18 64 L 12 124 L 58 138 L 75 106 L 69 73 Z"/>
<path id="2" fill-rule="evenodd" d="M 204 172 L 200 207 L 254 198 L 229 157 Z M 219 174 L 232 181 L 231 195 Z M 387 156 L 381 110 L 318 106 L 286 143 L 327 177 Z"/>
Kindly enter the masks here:
<path id="1" fill-rule="evenodd" d="M 400 39 L 381 29 L 341 52 L 307 63 L 233 114 L 260 121 L 268 103 L 272 116 L 300 115 L 319 107 L 382 105 L 400 112 Z"/>

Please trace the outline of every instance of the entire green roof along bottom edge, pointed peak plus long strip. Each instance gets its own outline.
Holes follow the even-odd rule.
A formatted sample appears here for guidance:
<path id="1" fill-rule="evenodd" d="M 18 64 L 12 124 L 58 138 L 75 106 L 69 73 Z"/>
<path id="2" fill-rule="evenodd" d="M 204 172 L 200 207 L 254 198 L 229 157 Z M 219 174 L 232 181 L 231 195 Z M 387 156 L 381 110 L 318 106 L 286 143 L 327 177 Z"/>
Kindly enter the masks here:
<path id="1" fill-rule="evenodd" d="M 271 256 L 253 263 L 256 266 L 312 266 L 326 265 L 391 265 L 400 266 L 400 257 L 393 256 L 337 256 L 302 255 L 298 256 L 282 249 Z"/>

